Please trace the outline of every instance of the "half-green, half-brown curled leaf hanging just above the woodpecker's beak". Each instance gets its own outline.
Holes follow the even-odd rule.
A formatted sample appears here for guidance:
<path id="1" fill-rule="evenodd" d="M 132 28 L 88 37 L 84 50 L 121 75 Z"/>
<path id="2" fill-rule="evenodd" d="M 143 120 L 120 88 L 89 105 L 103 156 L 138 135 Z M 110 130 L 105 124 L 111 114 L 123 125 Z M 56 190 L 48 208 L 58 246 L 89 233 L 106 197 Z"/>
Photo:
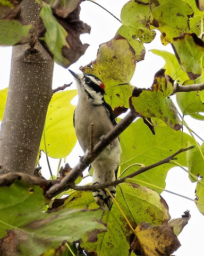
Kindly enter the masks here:
<path id="1" fill-rule="evenodd" d="M 63 67 L 69 67 L 87 50 L 88 44 L 82 44 L 80 35 L 90 33 L 90 27 L 79 18 L 80 6 L 66 18 L 52 14 L 50 6 L 44 4 L 38 25 L 39 38 L 54 61 Z"/>

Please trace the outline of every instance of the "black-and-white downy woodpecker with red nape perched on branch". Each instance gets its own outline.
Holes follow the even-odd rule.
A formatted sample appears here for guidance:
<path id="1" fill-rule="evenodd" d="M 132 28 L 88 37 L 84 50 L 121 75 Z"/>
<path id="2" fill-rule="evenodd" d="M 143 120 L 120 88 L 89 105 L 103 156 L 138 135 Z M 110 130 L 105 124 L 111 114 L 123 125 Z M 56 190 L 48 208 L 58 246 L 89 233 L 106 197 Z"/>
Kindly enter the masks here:
<path id="1" fill-rule="evenodd" d="M 90 149 L 90 140 L 94 146 L 103 135 L 106 135 L 116 125 L 116 118 L 111 106 L 104 100 L 105 85 L 100 79 L 90 74 L 75 74 L 69 70 L 77 81 L 79 101 L 74 112 L 74 127 L 80 146 L 84 153 Z M 91 134 L 91 124 L 93 124 Z M 100 155 L 91 163 L 93 167 L 93 184 L 112 182 L 116 180 L 118 164 L 120 163 L 121 146 L 118 138 L 114 139 Z M 116 188 L 108 187 L 115 197 Z M 111 209 L 113 199 L 104 189 L 93 191 L 96 203 Z"/>

